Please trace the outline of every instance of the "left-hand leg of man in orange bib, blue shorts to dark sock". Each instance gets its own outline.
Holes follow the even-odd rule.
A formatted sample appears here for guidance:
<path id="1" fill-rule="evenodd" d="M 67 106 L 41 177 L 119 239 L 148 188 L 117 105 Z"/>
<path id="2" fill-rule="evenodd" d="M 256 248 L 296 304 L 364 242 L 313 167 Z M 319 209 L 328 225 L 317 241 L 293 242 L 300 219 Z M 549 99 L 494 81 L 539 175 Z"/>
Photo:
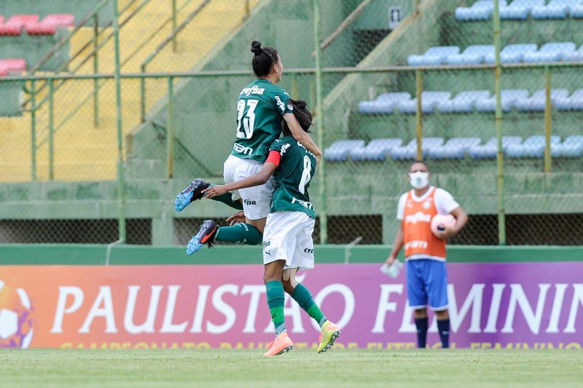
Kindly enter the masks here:
<path id="1" fill-rule="evenodd" d="M 425 348 L 427 344 L 427 329 L 429 320 L 427 319 L 427 291 L 423 281 L 423 262 L 429 261 L 408 260 L 407 261 L 407 296 L 409 306 L 413 309 L 413 319 L 417 328 L 417 346 Z"/>

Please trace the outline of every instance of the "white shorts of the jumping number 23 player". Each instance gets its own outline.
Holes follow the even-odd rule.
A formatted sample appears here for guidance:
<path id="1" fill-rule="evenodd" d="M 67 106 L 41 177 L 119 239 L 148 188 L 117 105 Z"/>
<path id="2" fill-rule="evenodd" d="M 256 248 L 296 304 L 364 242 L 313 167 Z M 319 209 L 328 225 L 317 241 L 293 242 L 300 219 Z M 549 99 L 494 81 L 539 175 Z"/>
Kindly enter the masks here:
<path id="1" fill-rule="evenodd" d="M 226 184 L 240 181 L 261 171 L 263 163 L 251 159 L 241 159 L 229 155 L 224 162 L 223 178 Z M 240 189 L 231 192 L 233 200 L 243 200 L 243 212 L 250 220 L 259 220 L 269 214 L 269 205 L 273 193 L 273 176 L 264 185 Z"/>

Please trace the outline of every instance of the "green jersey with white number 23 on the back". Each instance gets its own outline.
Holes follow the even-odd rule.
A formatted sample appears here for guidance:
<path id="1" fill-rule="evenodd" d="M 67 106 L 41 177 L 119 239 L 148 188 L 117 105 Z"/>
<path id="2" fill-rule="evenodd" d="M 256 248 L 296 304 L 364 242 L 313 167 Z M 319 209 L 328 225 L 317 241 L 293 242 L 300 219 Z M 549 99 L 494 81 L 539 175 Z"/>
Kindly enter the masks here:
<path id="1" fill-rule="evenodd" d="M 289 94 L 266 79 L 248 84 L 237 101 L 237 140 L 231 155 L 264 163 L 282 133 L 283 115 L 293 113 Z"/>

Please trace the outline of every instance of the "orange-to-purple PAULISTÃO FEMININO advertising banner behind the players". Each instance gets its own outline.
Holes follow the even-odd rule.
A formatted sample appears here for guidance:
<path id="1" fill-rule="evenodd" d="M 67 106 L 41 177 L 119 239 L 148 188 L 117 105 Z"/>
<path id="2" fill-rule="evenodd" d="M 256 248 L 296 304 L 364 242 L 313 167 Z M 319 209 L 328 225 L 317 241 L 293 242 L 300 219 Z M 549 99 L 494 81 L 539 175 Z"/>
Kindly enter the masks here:
<path id="1" fill-rule="evenodd" d="M 342 327 L 336 348 L 415 347 L 405 273 L 321 264 L 300 274 Z M 452 347 L 581 348 L 583 263 L 452 263 Z M 0 347 L 264 348 L 273 339 L 260 265 L 3 266 Z M 286 295 L 296 348 L 318 326 Z M 439 347 L 436 322 L 429 346 Z"/>

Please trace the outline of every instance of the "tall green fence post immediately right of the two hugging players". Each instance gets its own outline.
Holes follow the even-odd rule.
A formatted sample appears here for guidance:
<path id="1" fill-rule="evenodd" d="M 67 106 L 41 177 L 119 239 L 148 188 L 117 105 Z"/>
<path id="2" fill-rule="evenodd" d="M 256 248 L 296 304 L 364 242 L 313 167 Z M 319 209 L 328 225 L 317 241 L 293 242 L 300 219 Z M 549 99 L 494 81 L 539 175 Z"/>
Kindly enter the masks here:
<path id="1" fill-rule="evenodd" d="M 314 47 L 315 47 L 315 66 L 316 66 L 316 125 L 318 131 L 318 146 L 324 149 L 324 114 L 322 101 L 322 63 L 320 61 L 320 0 L 314 0 Z M 328 218 L 326 216 L 326 181 L 325 181 L 325 160 L 319 165 L 319 194 L 320 209 L 318 211 L 320 218 L 320 244 L 326 244 L 328 240 Z"/>

